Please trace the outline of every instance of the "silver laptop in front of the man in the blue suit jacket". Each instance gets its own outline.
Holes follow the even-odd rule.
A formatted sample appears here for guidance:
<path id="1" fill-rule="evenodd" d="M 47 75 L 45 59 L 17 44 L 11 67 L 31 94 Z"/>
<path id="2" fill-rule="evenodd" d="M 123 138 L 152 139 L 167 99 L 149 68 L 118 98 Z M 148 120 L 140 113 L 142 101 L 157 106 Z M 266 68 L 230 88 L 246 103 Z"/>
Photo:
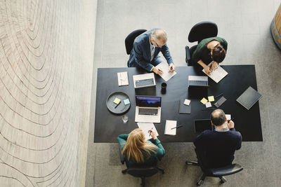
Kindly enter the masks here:
<path id="1" fill-rule="evenodd" d="M 133 86 L 135 88 L 144 88 L 154 85 L 156 85 L 154 73 L 140 74 L 140 75 L 133 76 Z"/>

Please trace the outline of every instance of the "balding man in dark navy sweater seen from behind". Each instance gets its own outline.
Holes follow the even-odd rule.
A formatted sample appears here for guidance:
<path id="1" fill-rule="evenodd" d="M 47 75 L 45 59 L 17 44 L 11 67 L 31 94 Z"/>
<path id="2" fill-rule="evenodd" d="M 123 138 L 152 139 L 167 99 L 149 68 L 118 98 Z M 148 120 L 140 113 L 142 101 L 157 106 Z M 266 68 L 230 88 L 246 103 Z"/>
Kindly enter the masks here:
<path id="1" fill-rule="evenodd" d="M 214 125 L 215 130 L 205 130 L 194 141 L 197 158 L 205 168 L 230 165 L 235 150 L 241 148 L 242 136 L 221 109 L 211 113 L 211 125 Z"/>

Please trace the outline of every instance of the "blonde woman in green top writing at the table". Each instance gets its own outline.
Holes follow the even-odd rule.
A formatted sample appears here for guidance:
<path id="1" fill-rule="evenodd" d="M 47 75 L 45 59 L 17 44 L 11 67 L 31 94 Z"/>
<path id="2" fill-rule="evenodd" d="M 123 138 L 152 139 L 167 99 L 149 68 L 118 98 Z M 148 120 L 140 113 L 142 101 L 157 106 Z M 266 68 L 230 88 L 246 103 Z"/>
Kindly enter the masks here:
<path id="1" fill-rule="evenodd" d="M 156 136 L 154 130 L 150 130 L 151 137 L 154 139 L 154 144 L 151 141 L 145 140 L 145 134 L 141 129 L 135 129 L 130 134 L 120 134 L 118 143 L 124 155 L 126 166 L 132 165 L 157 165 L 157 160 L 165 154 L 165 150 Z"/>

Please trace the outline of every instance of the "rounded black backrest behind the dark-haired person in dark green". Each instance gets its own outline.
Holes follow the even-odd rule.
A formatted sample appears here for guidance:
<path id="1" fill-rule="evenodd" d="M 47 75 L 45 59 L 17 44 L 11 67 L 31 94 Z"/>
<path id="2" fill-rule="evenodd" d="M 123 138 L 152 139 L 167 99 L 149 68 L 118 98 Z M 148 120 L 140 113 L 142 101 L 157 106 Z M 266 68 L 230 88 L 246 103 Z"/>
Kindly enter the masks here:
<path id="1" fill-rule="evenodd" d="M 199 22 L 194 25 L 188 34 L 188 41 L 195 42 L 202 41 L 202 39 L 207 39 L 218 35 L 218 26 L 214 22 Z"/>

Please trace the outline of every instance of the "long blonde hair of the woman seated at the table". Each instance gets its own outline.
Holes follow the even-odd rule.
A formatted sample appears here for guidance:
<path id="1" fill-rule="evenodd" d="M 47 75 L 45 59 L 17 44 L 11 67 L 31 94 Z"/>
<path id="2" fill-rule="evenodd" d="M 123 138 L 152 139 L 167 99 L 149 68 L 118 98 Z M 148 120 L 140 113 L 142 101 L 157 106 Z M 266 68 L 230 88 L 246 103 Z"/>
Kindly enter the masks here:
<path id="1" fill-rule="evenodd" d="M 141 129 L 130 132 L 127 143 L 123 148 L 122 154 L 133 162 L 145 162 L 145 158 L 150 158 L 151 153 L 156 153 L 157 146 L 145 141 L 145 134 Z"/>

